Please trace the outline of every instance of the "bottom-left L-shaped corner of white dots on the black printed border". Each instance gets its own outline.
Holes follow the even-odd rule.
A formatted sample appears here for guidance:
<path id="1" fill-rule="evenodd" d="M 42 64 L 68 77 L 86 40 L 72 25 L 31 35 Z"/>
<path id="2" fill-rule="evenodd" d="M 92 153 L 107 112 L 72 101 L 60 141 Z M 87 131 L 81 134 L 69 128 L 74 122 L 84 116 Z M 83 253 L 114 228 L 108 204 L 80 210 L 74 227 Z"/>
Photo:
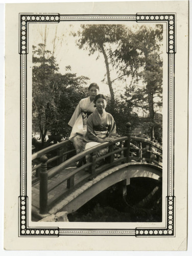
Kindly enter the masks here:
<path id="1" fill-rule="evenodd" d="M 28 227 L 28 197 L 19 197 L 19 237 L 59 237 L 59 228 L 29 228 Z"/>

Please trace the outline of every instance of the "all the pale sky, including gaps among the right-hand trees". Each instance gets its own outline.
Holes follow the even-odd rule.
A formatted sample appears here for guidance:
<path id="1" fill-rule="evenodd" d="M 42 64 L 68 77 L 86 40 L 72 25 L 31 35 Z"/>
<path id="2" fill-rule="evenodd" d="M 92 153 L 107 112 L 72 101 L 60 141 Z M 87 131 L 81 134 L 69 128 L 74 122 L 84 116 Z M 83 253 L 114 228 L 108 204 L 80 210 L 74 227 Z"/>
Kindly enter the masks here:
<path id="1" fill-rule="evenodd" d="M 71 67 L 71 73 L 76 73 L 77 76 L 86 76 L 90 78 L 86 87 L 90 83 L 96 82 L 100 87 L 100 93 L 110 95 L 108 84 L 106 79 L 102 80 L 106 74 L 106 66 L 103 54 L 94 53 L 89 54 L 88 50 L 79 49 L 77 46 L 78 36 L 73 36 L 72 33 L 80 30 L 82 23 L 52 23 L 52 24 L 30 24 L 29 40 L 32 42 L 31 45 L 37 46 L 40 43 L 44 43 L 44 35 L 46 30 L 46 50 L 53 52 L 54 38 L 55 39 L 55 52 L 54 56 L 59 66 L 59 73 L 65 74 L 66 66 Z M 101 24 L 101 23 L 100 23 Z M 125 23 L 120 23 L 124 24 Z M 135 23 L 130 22 L 127 27 L 133 29 Z M 137 26 L 142 26 L 138 24 Z M 146 26 L 149 26 L 146 24 Z M 150 25 L 153 26 L 153 25 Z M 155 25 L 154 25 L 155 26 Z M 46 29 L 45 29 L 46 27 Z M 29 49 L 32 51 L 32 49 Z M 67 71 L 68 72 L 68 71 Z M 110 71 L 111 80 L 117 78 L 117 74 L 114 70 Z M 124 94 L 126 86 L 129 86 L 131 80 L 127 79 L 127 82 L 116 80 L 113 83 L 113 90 L 116 96 Z M 139 82 L 142 86 L 142 81 Z M 157 110 L 159 112 L 159 110 Z M 144 112 L 142 109 L 137 110 L 140 116 L 143 116 Z"/>

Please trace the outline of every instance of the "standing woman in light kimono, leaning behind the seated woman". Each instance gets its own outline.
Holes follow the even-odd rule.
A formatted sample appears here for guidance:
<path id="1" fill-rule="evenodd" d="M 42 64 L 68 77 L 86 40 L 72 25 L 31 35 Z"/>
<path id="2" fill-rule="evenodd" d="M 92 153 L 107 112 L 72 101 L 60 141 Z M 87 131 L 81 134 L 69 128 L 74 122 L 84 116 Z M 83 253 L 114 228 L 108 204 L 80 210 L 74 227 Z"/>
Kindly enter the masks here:
<path id="1" fill-rule="evenodd" d="M 69 139 L 73 141 L 77 154 L 83 150 L 83 136 L 87 132 L 87 118 L 95 110 L 93 100 L 99 93 L 98 84 L 91 83 L 88 91 L 89 97 L 80 100 L 73 116 L 68 122 L 68 125 L 73 127 Z"/>

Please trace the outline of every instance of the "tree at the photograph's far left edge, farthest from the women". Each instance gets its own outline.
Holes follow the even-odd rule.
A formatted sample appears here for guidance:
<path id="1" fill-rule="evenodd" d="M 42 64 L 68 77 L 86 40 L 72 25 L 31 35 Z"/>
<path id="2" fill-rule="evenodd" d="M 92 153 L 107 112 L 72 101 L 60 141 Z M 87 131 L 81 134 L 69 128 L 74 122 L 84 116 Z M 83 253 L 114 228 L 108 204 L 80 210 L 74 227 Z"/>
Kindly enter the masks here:
<path id="1" fill-rule="evenodd" d="M 33 46 L 33 129 L 39 128 L 42 145 L 47 133 L 49 119 L 46 109 L 47 103 L 54 105 L 53 88 L 50 80 L 58 71 L 58 65 L 50 51 L 45 50 L 44 44 L 39 44 L 38 48 Z"/>

